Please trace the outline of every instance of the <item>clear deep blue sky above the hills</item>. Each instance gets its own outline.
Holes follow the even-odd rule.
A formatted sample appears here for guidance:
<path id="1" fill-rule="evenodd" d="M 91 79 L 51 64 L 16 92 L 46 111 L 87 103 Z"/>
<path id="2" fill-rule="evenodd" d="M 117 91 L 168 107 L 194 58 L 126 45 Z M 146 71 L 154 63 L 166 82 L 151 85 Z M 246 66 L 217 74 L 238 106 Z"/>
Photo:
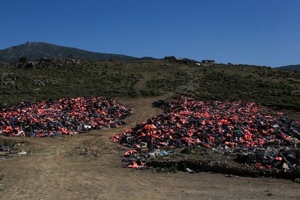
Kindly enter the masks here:
<path id="1" fill-rule="evenodd" d="M 300 64 L 300 0 L 0 0 L 0 49 L 26 41 L 135 57 Z"/>

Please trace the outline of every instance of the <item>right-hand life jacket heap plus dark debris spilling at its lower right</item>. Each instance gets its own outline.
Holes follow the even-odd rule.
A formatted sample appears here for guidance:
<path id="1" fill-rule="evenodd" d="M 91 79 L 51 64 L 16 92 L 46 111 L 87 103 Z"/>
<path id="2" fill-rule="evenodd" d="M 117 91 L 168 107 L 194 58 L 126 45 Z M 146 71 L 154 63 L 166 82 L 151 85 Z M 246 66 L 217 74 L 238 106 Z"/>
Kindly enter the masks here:
<path id="1" fill-rule="evenodd" d="M 229 154 L 240 152 L 237 161 L 257 167 L 299 165 L 293 135 L 300 122 L 262 112 L 254 102 L 198 101 L 181 96 L 157 116 L 110 138 L 128 147 L 146 142 L 151 156 L 164 147 L 208 147 Z"/>

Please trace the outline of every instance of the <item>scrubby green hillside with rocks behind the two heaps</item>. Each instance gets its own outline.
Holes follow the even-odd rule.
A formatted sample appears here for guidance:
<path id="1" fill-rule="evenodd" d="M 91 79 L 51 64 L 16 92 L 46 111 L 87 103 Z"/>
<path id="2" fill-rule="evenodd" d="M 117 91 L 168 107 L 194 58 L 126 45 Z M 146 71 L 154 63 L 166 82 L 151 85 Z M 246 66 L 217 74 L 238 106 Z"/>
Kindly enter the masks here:
<path id="1" fill-rule="evenodd" d="M 255 65 L 199 66 L 168 59 L 113 61 L 43 58 L 0 63 L 0 102 L 106 96 L 117 99 L 187 95 L 201 100 L 245 100 L 300 111 L 300 72 Z"/>

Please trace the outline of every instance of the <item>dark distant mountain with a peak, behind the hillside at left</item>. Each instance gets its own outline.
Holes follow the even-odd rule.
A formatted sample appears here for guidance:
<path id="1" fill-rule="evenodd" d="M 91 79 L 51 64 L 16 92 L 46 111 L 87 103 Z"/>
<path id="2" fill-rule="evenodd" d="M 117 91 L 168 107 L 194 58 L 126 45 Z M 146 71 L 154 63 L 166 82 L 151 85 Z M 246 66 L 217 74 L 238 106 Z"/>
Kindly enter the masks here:
<path id="1" fill-rule="evenodd" d="M 11 46 L 0 50 L 1 62 L 15 62 L 20 57 L 27 57 L 28 61 L 42 57 L 68 57 L 70 54 L 74 57 L 85 58 L 88 60 L 115 59 L 118 61 L 128 60 L 155 60 L 153 57 L 132 57 L 122 54 L 98 53 L 79 48 L 59 46 L 45 42 L 26 42 L 24 44 Z"/>

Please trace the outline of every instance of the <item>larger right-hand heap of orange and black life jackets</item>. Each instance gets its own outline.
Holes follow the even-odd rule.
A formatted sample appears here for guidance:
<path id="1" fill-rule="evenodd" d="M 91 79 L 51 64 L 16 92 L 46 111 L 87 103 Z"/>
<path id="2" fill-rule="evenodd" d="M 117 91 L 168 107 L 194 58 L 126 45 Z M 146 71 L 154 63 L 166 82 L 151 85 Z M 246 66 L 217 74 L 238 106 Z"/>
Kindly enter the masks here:
<path id="1" fill-rule="evenodd" d="M 260 111 L 253 102 L 196 101 L 181 96 L 164 112 L 110 138 L 129 147 L 147 142 L 149 149 L 290 145 L 290 129 L 298 130 L 299 121 L 273 118 Z"/>

